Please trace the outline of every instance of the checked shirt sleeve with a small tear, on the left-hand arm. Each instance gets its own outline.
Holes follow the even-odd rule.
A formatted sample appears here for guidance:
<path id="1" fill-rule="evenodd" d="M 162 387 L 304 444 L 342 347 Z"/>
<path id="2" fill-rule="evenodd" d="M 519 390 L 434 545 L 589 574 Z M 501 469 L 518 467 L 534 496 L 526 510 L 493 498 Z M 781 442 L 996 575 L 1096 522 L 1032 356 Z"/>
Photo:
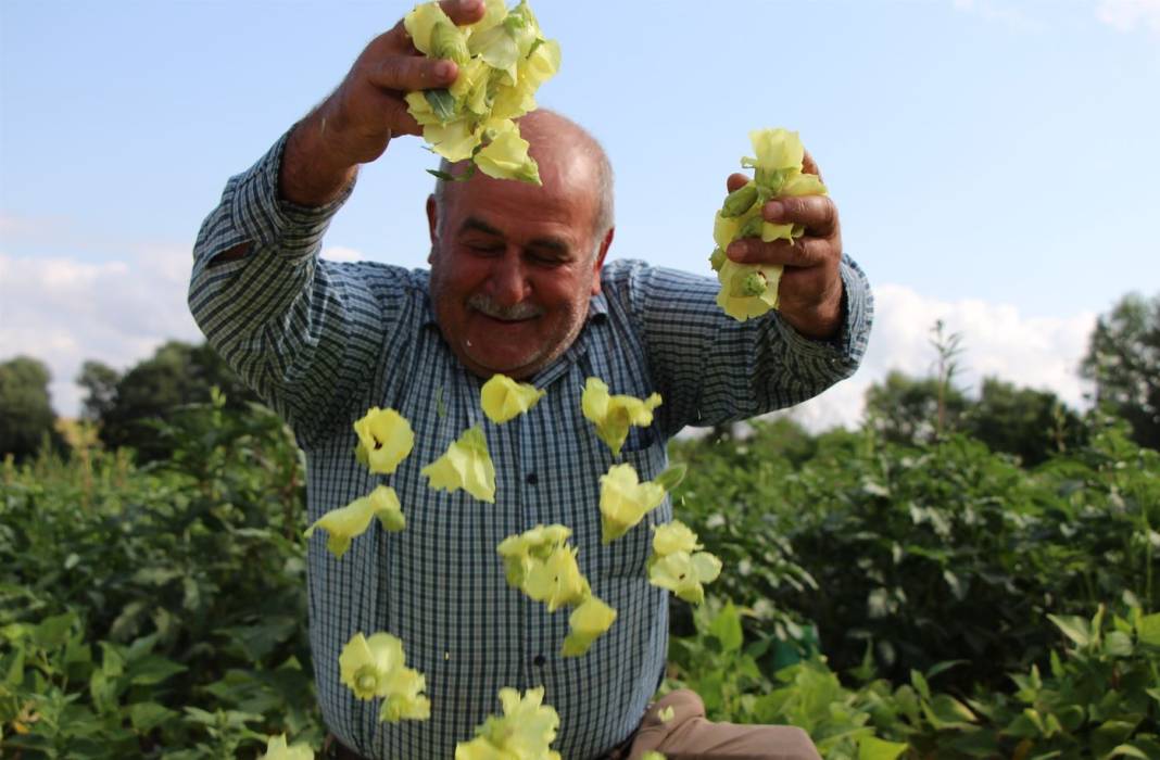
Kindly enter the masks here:
<path id="1" fill-rule="evenodd" d="M 303 446 L 346 424 L 370 382 L 390 313 L 357 265 L 319 260 L 351 187 L 326 207 L 281 201 L 283 136 L 226 183 L 194 247 L 189 309 L 210 345 L 295 429 Z M 238 260 L 215 262 L 247 245 Z"/>

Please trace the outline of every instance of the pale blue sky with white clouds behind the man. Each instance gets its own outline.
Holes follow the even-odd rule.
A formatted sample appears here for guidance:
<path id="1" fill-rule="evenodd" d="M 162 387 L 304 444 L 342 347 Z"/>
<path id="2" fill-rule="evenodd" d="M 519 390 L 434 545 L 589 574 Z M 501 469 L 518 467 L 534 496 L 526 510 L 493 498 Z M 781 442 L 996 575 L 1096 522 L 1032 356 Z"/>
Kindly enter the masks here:
<path id="1" fill-rule="evenodd" d="M 72 413 L 81 359 L 124 367 L 195 338 L 182 282 L 225 180 L 409 7 L 2 0 L 0 359 L 41 355 Z M 1076 400 L 1094 316 L 1160 291 L 1160 0 L 532 7 L 564 58 L 541 103 L 617 172 L 614 255 L 708 273 L 748 131 L 800 131 L 879 302 L 827 421 L 889 367 L 926 371 L 936 318 L 976 376 Z M 421 266 L 433 165 L 396 140 L 328 255 Z"/>

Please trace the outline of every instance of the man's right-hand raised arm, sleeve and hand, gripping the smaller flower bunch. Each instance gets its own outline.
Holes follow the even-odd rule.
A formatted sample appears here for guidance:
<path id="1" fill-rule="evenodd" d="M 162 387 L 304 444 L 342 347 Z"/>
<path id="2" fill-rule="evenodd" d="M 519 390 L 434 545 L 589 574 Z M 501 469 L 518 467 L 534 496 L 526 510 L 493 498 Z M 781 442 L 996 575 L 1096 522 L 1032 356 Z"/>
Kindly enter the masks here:
<path id="1" fill-rule="evenodd" d="M 818 172 L 809 155 L 805 169 Z M 747 179 L 732 175 L 728 189 Z M 865 352 L 873 299 L 861 268 L 842 253 L 834 202 L 780 198 L 762 213 L 767 222 L 802 224 L 804 233 L 793 243 L 738 240 L 726 255 L 784 265 L 777 311 L 739 323 L 717 305 L 719 284 L 705 276 L 641 267 L 630 281 L 669 433 L 799 404 L 851 375 Z"/>

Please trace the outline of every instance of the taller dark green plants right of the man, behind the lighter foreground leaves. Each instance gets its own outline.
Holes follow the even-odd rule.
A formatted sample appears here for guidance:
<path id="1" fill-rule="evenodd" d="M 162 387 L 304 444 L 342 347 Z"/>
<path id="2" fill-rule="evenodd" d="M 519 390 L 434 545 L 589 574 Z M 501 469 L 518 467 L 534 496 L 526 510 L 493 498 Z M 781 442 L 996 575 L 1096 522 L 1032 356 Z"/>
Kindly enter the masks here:
<path id="1" fill-rule="evenodd" d="M 1046 654 L 1045 614 L 1124 591 L 1158 608 L 1160 456 L 1122 427 L 1032 470 L 963 436 L 838 432 L 797 463 L 767 456 L 768 436 L 677 444 L 677 515 L 725 560 L 718 593 L 754 610 L 751 631 L 809 650 L 812 623 L 840 671 L 871 646 L 894 681 L 969 659 L 955 686 L 996 689 Z"/>

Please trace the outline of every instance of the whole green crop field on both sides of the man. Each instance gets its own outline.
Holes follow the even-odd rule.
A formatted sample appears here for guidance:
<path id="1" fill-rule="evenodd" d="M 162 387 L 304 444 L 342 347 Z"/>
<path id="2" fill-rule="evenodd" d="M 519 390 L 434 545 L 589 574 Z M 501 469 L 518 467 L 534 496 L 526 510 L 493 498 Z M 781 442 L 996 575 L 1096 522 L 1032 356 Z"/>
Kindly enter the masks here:
<path id="1" fill-rule="evenodd" d="M 725 572 L 673 602 L 664 688 L 827 758 L 1160 758 L 1160 456 L 1086 425 L 1035 468 L 785 421 L 675 442 Z M 161 463 L 0 472 L 2 758 L 321 745 L 291 436 L 220 403 L 157 434 Z"/>

